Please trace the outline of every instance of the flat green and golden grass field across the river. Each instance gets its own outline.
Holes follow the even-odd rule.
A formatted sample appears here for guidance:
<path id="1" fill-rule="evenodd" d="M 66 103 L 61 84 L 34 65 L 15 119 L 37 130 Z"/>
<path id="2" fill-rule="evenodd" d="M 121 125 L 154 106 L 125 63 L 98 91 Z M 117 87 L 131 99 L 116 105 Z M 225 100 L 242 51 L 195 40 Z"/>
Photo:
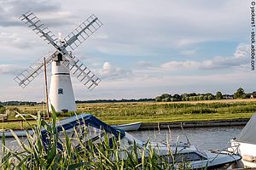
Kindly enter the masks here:
<path id="1" fill-rule="evenodd" d="M 20 113 L 37 115 L 45 106 L 10 106 Z M 80 104 L 78 113 L 90 113 L 103 122 L 121 124 L 128 122 L 186 122 L 249 118 L 256 111 L 256 99 L 229 99 L 189 102 L 137 102 Z M 68 116 L 68 115 L 64 115 Z M 61 118 L 61 117 L 60 117 Z M 31 122 L 34 124 L 35 122 Z M 28 127 L 24 123 L 25 127 Z M 18 128 L 20 122 L 1 122 L 0 128 Z"/>

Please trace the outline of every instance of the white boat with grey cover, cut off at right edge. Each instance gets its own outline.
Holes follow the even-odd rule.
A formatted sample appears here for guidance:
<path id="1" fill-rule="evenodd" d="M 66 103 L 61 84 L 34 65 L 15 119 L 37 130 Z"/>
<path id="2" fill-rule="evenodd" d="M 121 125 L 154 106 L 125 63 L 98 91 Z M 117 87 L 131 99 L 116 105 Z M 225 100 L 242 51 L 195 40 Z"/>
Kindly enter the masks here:
<path id="1" fill-rule="evenodd" d="M 230 142 L 229 150 L 242 156 L 239 167 L 256 167 L 256 114 L 247 122 L 241 133 Z"/>

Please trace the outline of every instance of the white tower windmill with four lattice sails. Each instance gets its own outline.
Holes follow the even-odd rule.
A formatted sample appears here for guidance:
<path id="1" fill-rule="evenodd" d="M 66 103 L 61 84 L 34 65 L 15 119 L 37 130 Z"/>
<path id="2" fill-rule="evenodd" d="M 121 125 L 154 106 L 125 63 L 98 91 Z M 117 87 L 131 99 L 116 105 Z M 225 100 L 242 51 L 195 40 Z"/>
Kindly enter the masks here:
<path id="1" fill-rule="evenodd" d="M 19 19 L 25 22 L 45 42 L 50 43 L 55 48 L 55 51 L 44 54 L 43 57 L 30 65 L 25 71 L 22 71 L 15 77 L 15 82 L 20 87 L 26 88 L 35 77 L 44 71 L 44 64 L 47 66 L 51 64 L 52 76 L 49 88 L 49 105 L 53 105 L 55 111 L 58 112 L 76 111 L 70 72 L 90 90 L 95 88 L 101 80 L 76 58 L 72 51 L 99 29 L 102 26 L 102 22 L 92 14 L 67 37 L 61 39 L 55 37 L 52 31 L 49 31 L 49 28 L 30 11 L 22 14 Z"/>

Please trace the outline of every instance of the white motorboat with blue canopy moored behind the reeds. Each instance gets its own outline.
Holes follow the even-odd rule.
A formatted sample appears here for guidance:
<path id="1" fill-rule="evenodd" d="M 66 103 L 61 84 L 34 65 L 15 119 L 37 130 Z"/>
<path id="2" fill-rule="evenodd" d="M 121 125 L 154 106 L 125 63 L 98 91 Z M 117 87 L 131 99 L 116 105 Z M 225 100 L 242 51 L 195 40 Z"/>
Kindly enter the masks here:
<path id="1" fill-rule="evenodd" d="M 86 128 L 84 128 L 84 126 Z M 193 169 L 198 168 L 218 168 L 218 167 L 229 167 L 230 164 L 239 161 L 241 156 L 230 154 L 230 152 L 221 152 L 206 150 L 198 150 L 195 145 L 189 143 L 180 142 L 178 144 L 167 144 L 167 143 L 156 143 L 150 142 L 145 143 L 140 139 L 135 138 L 130 133 L 125 132 L 116 127 L 109 126 L 108 124 L 97 119 L 95 116 L 90 114 L 81 114 L 77 116 L 68 117 L 63 119 L 56 124 L 56 132 L 61 136 L 61 133 L 65 132 L 73 136 L 73 130 L 75 129 L 77 134 L 83 138 L 84 143 L 91 140 L 93 143 L 98 143 L 104 141 L 106 137 L 104 134 L 107 134 L 109 138 L 109 144 L 112 143 L 113 139 L 120 139 L 119 144 L 125 150 L 133 150 L 132 146 L 134 143 L 137 144 L 138 149 L 149 150 L 153 148 L 157 150 L 159 156 L 164 156 L 168 161 L 173 162 L 172 156 L 170 156 L 170 150 L 175 157 L 175 165 L 178 166 L 178 163 L 181 161 L 189 162 L 189 165 Z M 48 131 L 43 129 L 41 131 L 44 146 L 49 143 Z M 85 135 L 84 135 L 85 134 Z M 63 138 L 65 141 L 65 138 Z M 79 146 L 79 145 L 78 145 Z M 61 146 L 60 146 L 61 147 Z M 130 149 L 129 149 L 130 148 Z M 59 148 L 61 150 L 61 148 Z M 147 152 L 146 152 L 146 155 Z"/>

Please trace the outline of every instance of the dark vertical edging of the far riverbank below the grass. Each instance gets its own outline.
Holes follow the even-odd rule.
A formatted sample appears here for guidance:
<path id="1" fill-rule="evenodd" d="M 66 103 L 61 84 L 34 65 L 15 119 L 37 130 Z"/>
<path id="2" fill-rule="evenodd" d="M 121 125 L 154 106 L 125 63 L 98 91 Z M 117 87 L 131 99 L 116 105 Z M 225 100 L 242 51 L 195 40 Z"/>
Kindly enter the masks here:
<path id="1" fill-rule="evenodd" d="M 142 123 L 138 130 L 162 130 L 171 128 L 186 127 L 230 127 L 230 126 L 245 126 L 249 118 L 235 120 L 214 120 L 214 121 L 188 121 L 188 122 L 151 122 Z"/>

